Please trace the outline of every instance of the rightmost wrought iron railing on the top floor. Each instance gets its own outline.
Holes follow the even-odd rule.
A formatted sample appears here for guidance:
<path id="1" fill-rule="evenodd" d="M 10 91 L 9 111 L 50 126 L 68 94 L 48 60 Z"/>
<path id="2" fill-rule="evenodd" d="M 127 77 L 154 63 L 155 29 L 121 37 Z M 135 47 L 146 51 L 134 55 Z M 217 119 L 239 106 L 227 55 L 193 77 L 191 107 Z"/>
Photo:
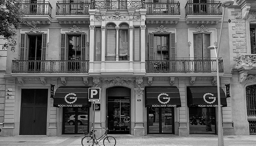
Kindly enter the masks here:
<path id="1" fill-rule="evenodd" d="M 191 3 L 188 1 L 185 11 L 186 15 L 222 15 L 220 1 L 215 1 L 215 3 Z"/>

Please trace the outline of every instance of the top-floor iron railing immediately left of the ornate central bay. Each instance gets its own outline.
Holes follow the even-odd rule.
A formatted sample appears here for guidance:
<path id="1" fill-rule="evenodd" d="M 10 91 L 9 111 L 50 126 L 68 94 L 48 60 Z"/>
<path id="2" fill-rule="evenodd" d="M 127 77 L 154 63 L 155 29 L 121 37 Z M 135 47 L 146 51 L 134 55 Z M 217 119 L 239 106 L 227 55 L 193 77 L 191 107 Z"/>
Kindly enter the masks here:
<path id="1" fill-rule="evenodd" d="M 56 15 L 89 15 L 92 3 L 56 3 Z"/>

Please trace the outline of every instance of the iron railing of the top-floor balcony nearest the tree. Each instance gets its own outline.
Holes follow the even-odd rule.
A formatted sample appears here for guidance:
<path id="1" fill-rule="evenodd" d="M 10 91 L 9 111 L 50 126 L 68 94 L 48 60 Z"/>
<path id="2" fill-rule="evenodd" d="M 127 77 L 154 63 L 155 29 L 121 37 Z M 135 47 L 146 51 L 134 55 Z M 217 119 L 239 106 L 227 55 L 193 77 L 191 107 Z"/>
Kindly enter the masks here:
<path id="1" fill-rule="evenodd" d="M 24 15 L 49 15 L 52 17 L 52 5 L 49 2 L 23 2 L 21 9 L 23 10 Z"/>

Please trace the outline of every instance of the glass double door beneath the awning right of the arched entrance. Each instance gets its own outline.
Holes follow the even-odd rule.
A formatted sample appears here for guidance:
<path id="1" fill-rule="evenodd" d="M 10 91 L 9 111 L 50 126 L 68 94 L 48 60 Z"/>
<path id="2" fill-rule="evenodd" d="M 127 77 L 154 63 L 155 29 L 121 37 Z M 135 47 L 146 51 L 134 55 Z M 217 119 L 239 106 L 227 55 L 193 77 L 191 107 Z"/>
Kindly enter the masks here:
<path id="1" fill-rule="evenodd" d="M 147 108 L 147 134 L 174 133 L 173 108 Z"/>

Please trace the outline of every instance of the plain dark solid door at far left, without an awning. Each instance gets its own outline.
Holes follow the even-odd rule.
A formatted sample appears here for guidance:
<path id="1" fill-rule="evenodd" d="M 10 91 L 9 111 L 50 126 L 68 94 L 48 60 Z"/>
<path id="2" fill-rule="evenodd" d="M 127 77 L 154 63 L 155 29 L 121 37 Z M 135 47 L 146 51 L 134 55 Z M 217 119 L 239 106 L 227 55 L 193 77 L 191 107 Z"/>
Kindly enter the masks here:
<path id="1" fill-rule="evenodd" d="M 48 89 L 21 90 L 20 135 L 46 135 Z"/>

